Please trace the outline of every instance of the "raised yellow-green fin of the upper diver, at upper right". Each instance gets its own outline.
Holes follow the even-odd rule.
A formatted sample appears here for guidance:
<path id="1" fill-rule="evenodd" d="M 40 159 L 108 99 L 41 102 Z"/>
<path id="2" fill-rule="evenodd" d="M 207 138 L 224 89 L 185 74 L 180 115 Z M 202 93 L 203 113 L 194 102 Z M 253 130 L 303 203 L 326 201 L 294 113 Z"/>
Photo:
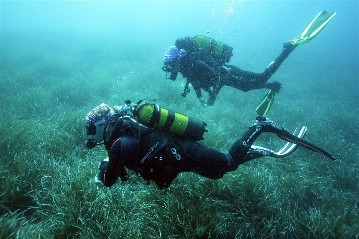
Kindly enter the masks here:
<path id="1" fill-rule="evenodd" d="M 300 44 L 309 42 L 323 30 L 323 28 L 328 24 L 330 19 L 332 19 L 335 14 L 335 12 L 327 13 L 326 11 L 321 11 L 313 20 L 311 20 L 311 22 L 307 25 L 306 28 L 304 28 L 303 32 L 300 33 L 298 37 L 288 40 L 286 43 L 292 43 L 293 46 L 298 46 Z"/>

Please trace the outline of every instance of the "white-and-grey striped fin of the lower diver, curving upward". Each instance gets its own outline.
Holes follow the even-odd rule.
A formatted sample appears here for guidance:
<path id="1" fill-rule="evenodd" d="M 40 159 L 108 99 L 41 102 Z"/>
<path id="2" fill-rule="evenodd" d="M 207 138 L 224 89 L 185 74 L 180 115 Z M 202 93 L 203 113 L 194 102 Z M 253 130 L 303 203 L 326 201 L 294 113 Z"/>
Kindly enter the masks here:
<path id="1" fill-rule="evenodd" d="M 306 132 L 307 132 L 307 126 L 305 126 L 304 124 L 299 124 L 297 129 L 294 130 L 293 135 L 295 137 L 302 139 L 306 134 Z M 284 158 L 292 154 L 297 148 L 298 148 L 298 144 L 294 144 L 290 142 L 287 142 L 283 147 L 281 147 L 276 151 L 259 147 L 256 145 L 252 145 L 251 149 L 248 150 L 248 153 L 246 154 L 245 158 L 247 158 L 248 160 L 260 158 L 264 156 L 270 156 L 274 158 Z"/>

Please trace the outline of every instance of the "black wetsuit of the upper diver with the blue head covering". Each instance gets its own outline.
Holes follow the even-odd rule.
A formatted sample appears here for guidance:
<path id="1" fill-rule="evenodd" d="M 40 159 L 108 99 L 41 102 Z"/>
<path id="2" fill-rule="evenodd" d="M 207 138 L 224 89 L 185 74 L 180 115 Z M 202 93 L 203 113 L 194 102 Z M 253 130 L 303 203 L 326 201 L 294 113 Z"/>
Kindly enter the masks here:
<path id="1" fill-rule="evenodd" d="M 187 52 L 186 56 L 180 59 L 179 72 L 187 78 L 188 83 L 192 84 L 199 98 L 202 97 L 201 88 L 208 92 L 211 100 L 216 99 L 223 86 L 232 86 L 244 92 L 262 88 L 278 90 L 280 83 L 267 83 L 267 81 L 293 49 L 284 49 L 262 73 L 244 71 L 236 66 L 216 62 L 216 58 L 206 52 L 191 54 Z M 176 78 L 172 77 L 171 79 Z M 211 87 L 213 87 L 212 90 Z"/>

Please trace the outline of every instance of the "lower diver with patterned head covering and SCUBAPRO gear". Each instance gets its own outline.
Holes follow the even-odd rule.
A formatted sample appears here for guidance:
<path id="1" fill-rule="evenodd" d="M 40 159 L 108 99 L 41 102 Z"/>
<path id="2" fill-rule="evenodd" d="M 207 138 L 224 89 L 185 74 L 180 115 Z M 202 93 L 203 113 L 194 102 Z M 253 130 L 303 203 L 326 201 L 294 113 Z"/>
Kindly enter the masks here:
<path id="1" fill-rule="evenodd" d="M 125 102 L 125 106 L 114 107 L 101 104 L 85 118 L 84 126 L 87 135 L 90 135 L 85 141 L 86 147 L 92 149 L 104 144 L 108 152 L 108 158 L 99 163 L 99 172 L 94 179 L 100 187 L 112 186 L 118 177 L 121 181 L 128 180 L 124 167 L 142 177 L 147 185 L 150 180 L 154 181 L 160 189 L 169 187 L 181 172 L 195 172 L 210 179 L 219 179 L 251 159 L 286 157 L 298 145 L 331 160 L 336 159 L 303 140 L 307 132 L 303 124 L 299 124 L 292 135 L 272 120 L 257 116 L 255 124 L 232 145 L 229 152 L 221 153 L 197 142 L 204 139 L 203 135 L 207 132 L 203 121 L 157 104 L 140 104 L 139 101 L 131 107 L 131 101 Z M 132 115 L 127 114 L 128 111 Z M 274 133 L 287 142 L 276 151 L 252 145 L 264 132 Z"/>

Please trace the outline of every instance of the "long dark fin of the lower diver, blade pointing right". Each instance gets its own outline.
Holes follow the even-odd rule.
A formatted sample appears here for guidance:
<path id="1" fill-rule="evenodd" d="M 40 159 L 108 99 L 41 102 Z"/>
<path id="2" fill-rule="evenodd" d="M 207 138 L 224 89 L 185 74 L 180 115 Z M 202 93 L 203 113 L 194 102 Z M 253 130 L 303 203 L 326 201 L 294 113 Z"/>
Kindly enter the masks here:
<path id="1" fill-rule="evenodd" d="M 330 153 L 317 147 L 316 145 L 309 143 L 306 140 L 301 139 L 295 135 L 290 134 L 281 125 L 275 123 L 274 121 L 272 121 L 264 116 L 258 115 L 255 123 L 250 128 L 252 128 L 252 127 L 256 127 L 258 131 L 262 130 L 264 132 L 274 133 L 279 138 L 281 138 L 285 141 L 288 141 L 293 144 L 298 144 L 304 148 L 313 150 L 314 152 L 318 152 L 318 153 L 322 154 L 323 156 L 327 157 L 328 159 L 331 159 L 331 160 L 336 159 L 336 157 L 333 157 Z"/>

